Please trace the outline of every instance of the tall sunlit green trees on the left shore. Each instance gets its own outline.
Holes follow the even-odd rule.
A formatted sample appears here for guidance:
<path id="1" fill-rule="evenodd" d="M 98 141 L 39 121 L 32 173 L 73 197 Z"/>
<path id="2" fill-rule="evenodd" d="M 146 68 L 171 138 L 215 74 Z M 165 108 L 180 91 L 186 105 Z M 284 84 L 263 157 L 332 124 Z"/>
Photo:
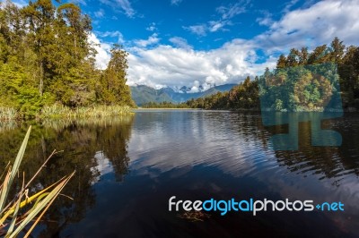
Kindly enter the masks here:
<path id="1" fill-rule="evenodd" d="M 34 117 L 51 106 L 134 106 L 127 52 L 114 45 L 107 68 L 98 70 L 92 22 L 78 5 L 0 4 L 0 117 Z"/>

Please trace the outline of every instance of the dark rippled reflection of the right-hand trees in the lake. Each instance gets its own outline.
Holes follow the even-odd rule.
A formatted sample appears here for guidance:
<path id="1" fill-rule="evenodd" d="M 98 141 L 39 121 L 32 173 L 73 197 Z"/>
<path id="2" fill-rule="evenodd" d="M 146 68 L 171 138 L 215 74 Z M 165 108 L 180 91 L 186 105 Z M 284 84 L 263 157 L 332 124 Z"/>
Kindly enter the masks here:
<path id="1" fill-rule="evenodd" d="M 357 117 L 356 114 L 348 114 L 345 117 L 325 120 L 317 126 L 324 129 L 323 131 L 333 130 L 342 136 L 342 145 L 337 147 L 313 146 L 311 121 L 298 123 L 296 141 L 299 148 L 292 151 L 276 151 L 279 164 L 287 166 L 295 173 L 320 174 L 320 179 L 337 178 L 336 185 L 340 184 L 341 177 L 346 174 L 359 175 L 359 148 L 355 142 L 359 133 L 359 123 L 355 119 Z M 278 135 L 288 132 L 288 125 L 277 125 L 266 129 L 271 135 Z M 328 136 L 327 139 L 332 138 Z"/>

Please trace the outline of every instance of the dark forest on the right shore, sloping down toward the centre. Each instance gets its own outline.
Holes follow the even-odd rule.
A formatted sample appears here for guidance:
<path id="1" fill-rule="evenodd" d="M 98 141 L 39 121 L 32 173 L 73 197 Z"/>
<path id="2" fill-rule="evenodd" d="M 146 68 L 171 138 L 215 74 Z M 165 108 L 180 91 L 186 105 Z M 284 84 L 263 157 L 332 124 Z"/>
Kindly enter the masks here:
<path id="1" fill-rule="evenodd" d="M 334 105 L 328 98 L 336 103 L 339 97 L 345 110 L 359 108 L 359 47 L 346 47 L 334 38 L 330 45 L 311 52 L 307 47 L 292 48 L 288 55 L 279 56 L 272 72 L 266 69 L 263 75 L 254 80 L 247 77 L 229 92 L 185 104 L 203 109 L 259 110 L 262 98 L 266 108 L 276 111 L 320 111 L 324 104 Z"/>

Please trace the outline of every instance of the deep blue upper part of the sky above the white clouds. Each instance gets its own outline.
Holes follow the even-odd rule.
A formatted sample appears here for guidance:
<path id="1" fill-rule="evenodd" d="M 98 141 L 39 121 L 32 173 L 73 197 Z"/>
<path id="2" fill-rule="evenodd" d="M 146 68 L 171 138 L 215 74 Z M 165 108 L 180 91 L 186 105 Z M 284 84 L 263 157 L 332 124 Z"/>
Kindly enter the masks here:
<path id="1" fill-rule="evenodd" d="M 197 50 L 221 47 L 234 38 L 254 38 L 267 30 L 260 20 L 279 20 L 285 11 L 302 2 L 281 1 L 89 1 L 85 12 L 92 15 L 94 30 L 120 31 L 126 40 L 149 38 L 156 33 L 161 44 L 171 38 L 185 38 Z M 93 3 L 93 4 L 92 4 Z M 113 38 L 105 38 L 114 40 Z M 176 45 L 174 45 L 176 46 Z"/>

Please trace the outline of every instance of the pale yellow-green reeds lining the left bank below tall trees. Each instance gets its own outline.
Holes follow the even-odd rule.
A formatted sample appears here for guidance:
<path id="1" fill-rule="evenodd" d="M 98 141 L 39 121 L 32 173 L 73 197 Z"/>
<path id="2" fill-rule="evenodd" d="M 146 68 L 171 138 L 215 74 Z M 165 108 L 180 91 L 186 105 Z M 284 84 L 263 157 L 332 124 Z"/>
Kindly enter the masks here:
<path id="1" fill-rule="evenodd" d="M 111 115 L 127 115 L 131 114 L 130 106 L 87 106 L 70 108 L 68 106 L 53 105 L 44 106 L 37 115 L 33 115 L 35 119 L 77 119 L 88 117 L 105 117 Z M 0 107 L 0 122 L 13 121 L 27 118 L 12 107 Z"/>

